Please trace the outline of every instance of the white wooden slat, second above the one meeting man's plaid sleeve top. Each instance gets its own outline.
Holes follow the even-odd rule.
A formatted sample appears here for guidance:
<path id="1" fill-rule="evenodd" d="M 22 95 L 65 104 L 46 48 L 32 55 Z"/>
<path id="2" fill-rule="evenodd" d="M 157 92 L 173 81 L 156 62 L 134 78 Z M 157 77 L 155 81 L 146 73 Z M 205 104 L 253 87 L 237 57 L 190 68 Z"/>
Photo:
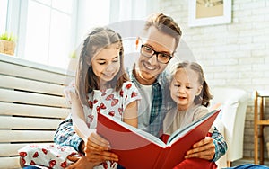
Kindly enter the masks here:
<path id="1" fill-rule="evenodd" d="M 22 102 L 37 105 L 56 106 L 56 107 L 68 107 L 64 97 L 57 97 L 39 93 L 24 93 L 6 89 L 0 89 L 0 101 Z"/>

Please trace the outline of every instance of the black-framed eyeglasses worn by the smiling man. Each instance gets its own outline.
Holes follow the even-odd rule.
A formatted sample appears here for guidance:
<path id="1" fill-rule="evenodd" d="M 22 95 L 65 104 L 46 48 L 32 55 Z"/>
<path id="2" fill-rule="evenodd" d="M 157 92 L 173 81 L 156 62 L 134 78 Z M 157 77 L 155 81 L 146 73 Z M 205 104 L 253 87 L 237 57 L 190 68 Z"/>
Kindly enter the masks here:
<path id="1" fill-rule="evenodd" d="M 169 63 L 170 59 L 173 58 L 171 54 L 155 51 L 146 45 L 141 45 L 140 53 L 147 58 L 156 55 L 157 61 L 163 64 Z"/>

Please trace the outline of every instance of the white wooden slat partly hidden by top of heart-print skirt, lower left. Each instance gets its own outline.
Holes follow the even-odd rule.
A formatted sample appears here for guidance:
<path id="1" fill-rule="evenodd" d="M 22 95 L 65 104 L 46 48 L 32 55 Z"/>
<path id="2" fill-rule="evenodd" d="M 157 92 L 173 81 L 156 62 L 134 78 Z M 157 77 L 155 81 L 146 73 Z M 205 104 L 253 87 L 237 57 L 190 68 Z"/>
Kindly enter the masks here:
<path id="1" fill-rule="evenodd" d="M 48 142 L 46 144 L 52 144 L 53 142 Z M 35 145 L 43 145 L 44 143 L 34 143 Z M 22 144 L 9 144 L 2 143 L 0 144 L 0 156 L 18 156 L 18 150 L 22 147 L 29 145 L 28 143 Z"/>

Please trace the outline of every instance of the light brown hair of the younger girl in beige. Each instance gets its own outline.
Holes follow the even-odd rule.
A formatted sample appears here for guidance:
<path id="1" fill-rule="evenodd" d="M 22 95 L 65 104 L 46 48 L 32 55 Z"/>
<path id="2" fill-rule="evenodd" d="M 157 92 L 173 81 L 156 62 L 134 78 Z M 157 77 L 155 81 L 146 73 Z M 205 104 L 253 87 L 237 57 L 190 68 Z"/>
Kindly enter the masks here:
<path id="1" fill-rule="evenodd" d="M 179 68 L 190 68 L 198 74 L 198 83 L 203 85 L 201 93 L 195 96 L 195 104 L 202 104 L 205 107 L 209 106 L 210 100 L 213 98 L 213 95 L 209 92 L 209 86 L 204 78 L 204 71 L 202 67 L 196 62 L 180 62 L 175 65 L 172 75 L 175 76 Z"/>

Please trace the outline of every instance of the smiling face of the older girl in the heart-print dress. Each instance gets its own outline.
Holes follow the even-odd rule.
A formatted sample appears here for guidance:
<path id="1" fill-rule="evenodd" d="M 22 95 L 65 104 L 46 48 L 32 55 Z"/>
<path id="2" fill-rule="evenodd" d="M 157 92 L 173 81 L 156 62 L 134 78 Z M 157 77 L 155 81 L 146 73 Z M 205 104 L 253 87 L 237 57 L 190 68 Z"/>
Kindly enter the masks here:
<path id="1" fill-rule="evenodd" d="M 112 44 L 108 48 L 101 49 L 91 60 L 91 67 L 94 74 L 99 78 L 100 83 L 111 81 L 120 68 L 118 44 Z"/>

